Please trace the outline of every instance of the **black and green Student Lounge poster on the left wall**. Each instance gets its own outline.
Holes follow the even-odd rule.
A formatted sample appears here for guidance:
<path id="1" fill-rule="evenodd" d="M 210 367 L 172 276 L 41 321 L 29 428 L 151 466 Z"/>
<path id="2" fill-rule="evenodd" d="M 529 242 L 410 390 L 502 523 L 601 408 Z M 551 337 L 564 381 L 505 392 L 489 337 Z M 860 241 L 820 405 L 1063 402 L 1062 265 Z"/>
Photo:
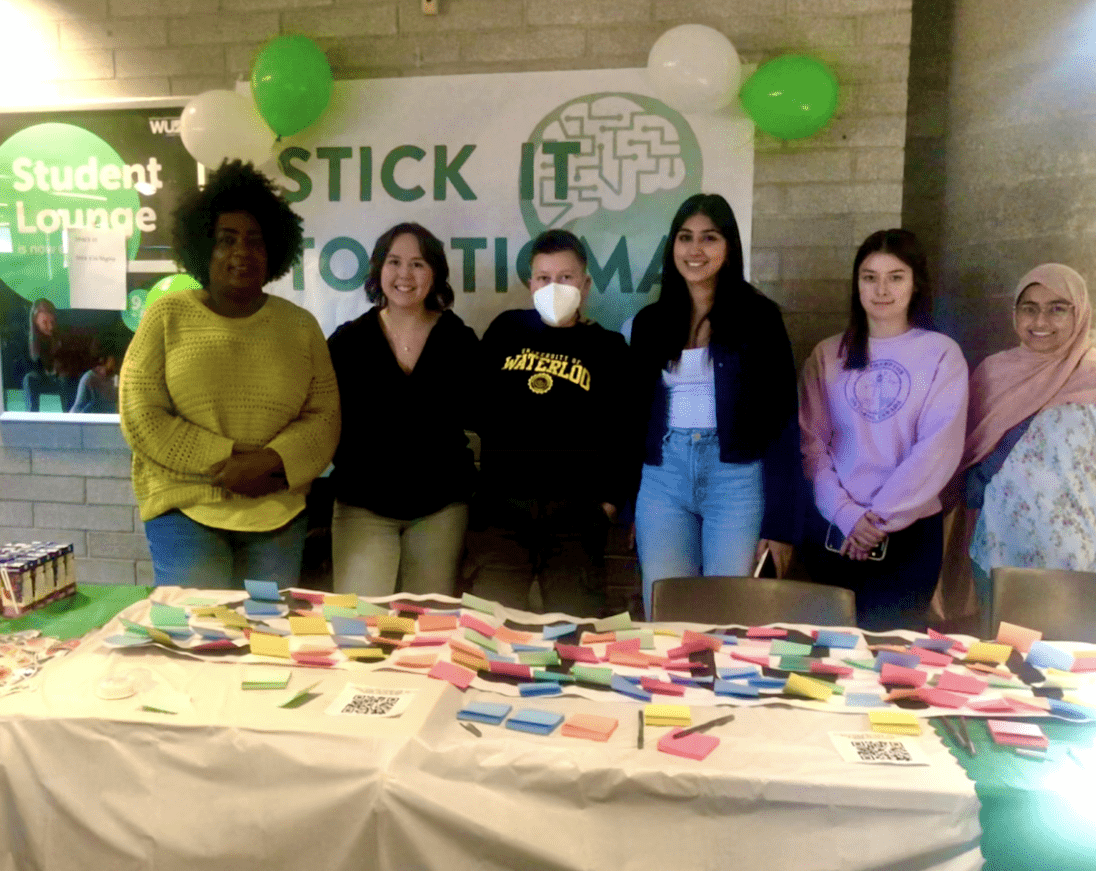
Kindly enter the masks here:
<path id="1" fill-rule="evenodd" d="M 0 386 L 5 412 L 111 413 L 149 297 L 186 280 L 169 219 L 198 180 L 183 100 L 0 113 Z"/>

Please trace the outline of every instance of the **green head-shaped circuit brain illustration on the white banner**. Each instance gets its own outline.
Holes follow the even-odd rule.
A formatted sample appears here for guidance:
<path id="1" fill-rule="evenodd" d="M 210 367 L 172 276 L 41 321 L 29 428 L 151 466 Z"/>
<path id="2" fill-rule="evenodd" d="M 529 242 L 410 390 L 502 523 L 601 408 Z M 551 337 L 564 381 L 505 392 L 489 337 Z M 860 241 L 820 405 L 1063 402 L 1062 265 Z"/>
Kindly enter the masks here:
<path id="1" fill-rule="evenodd" d="M 529 237 L 562 228 L 585 241 L 594 283 L 586 311 L 618 328 L 654 299 L 670 221 L 700 191 L 696 135 L 653 98 L 598 93 L 558 106 L 527 141 L 521 206 Z"/>

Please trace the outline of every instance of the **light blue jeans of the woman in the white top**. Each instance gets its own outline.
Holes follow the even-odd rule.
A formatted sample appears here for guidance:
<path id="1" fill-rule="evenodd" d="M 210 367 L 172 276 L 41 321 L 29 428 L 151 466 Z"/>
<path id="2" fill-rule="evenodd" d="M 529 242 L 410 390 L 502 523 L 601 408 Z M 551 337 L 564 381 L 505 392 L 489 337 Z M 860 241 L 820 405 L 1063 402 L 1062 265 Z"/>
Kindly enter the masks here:
<path id="1" fill-rule="evenodd" d="M 761 461 L 721 462 L 715 429 L 669 429 L 662 465 L 643 465 L 636 500 L 648 618 L 663 577 L 749 575 L 764 507 Z"/>

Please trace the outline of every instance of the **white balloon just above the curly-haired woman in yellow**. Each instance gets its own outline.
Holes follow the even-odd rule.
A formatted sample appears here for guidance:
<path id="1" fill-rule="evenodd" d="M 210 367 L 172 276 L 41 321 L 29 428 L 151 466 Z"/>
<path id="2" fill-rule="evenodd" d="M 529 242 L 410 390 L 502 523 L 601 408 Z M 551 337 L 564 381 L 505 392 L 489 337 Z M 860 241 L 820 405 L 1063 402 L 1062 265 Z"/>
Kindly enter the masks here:
<path id="1" fill-rule="evenodd" d="M 250 96 L 235 91 L 206 91 L 183 108 L 179 123 L 183 146 L 198 163 L 217 169 L 224 160 L 261 167 L 273 154 L 274 131 Z"/>

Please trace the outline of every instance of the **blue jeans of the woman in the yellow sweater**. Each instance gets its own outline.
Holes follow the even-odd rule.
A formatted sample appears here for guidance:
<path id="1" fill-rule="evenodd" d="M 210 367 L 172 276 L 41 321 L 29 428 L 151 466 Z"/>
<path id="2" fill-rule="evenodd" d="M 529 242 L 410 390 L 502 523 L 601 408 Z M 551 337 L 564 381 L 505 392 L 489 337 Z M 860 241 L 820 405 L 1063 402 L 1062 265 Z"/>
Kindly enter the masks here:
<path id="1" fill-rule="evenodd" d="M 269 532 L 217 529 L 170 511 L 145 523 L 157 586 L 243 589 L 244 578 L 300 583 L 305 512 Z"/>

